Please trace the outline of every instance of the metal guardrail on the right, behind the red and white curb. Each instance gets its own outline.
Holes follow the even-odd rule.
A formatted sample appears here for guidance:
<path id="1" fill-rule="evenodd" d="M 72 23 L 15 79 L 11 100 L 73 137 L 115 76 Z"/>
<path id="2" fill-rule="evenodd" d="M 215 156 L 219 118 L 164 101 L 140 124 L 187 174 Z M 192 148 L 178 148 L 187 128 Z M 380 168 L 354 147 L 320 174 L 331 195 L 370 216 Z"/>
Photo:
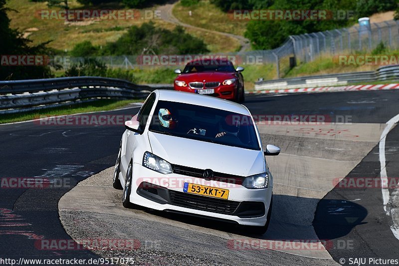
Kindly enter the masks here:
<path id="1" fill-rule="evenodd" d="M 360 82 L 373 82 L 384 80 L 399 80 L 399 65 L 380 67 L 377 71 L 337 73 L 259 81 L 255 83 L 255 90 L 260 91 L 340 86 Z"/>

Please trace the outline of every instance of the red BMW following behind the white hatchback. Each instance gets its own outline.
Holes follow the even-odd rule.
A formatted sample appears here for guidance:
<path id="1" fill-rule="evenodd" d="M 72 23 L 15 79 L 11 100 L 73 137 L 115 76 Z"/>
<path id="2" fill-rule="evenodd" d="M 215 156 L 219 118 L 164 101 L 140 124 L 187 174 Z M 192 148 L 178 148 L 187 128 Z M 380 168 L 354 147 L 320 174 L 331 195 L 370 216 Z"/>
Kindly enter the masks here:
<path id="1" fill-rule="evenodd" d="M 198 59 L 190 61 L 184 70 L 176 69 L 176 91 L 215 96 L 242 103 L 245 99 L 243 67 L 234 69 L 231 61 Z"/>

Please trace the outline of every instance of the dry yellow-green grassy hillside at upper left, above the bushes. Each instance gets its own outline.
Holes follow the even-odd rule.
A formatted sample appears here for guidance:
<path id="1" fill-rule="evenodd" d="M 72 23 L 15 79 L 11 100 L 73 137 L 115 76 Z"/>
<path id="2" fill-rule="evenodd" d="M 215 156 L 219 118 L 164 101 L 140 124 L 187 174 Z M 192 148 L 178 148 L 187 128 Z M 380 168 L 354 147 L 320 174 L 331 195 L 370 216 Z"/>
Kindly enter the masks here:
<path id="1" fill-rule="evenodd" d="M 84 8 L 76 0 L 68 1 L 70 8 Z M 71 50 L 76 43 L 89 40 L 94 45 L 104 45 L 106 42 L 117 40 L 127 28 L 132 25 L 141 25 L 148 22 L 147 19 L 135 20 L 87 20 L 67 23 L 64 20 L 42 20 L 36 15 L 39 10 L 49 9 L 46 2 L 31 2 L 29 0 L 9 0 L 7 7 L 17 10 L 8 11 L 8 17 L 11 19 L 11 27 L 18 28 L 24 32 L 24 36 L 33 41 L 33 44 L 46 42 L 49 47 L 60 50 Z M 108 8 L 118 9 L 121 6 L 118 3 L 109 3 L 106 6 L 90 6 L 91 9 Z M 60 10 L 58 7 L 51 9 Z M 156 10 L 157 7 L 147 8 L 146 10 Z M 175 24 L 161 19 L 152 19 L 159 27 L 173 29 Z M 239 43 L 230 37 L 220 36 L 215 39 L 208 32 L 192 30 L 186 31 L 202 39 L 211 52 L 233 52 L 239 48 Z"/>

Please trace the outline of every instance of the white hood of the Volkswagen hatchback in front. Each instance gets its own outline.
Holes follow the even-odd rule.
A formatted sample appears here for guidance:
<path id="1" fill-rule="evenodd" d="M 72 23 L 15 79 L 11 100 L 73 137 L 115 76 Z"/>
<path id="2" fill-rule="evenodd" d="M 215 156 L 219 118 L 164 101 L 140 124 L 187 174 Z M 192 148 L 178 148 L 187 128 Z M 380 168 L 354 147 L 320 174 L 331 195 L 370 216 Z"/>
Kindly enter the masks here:
<path id="1" fill-rule="evenodd" d="M 149 132 L 152 152 L 172 164 L 249 176 L 265 171 L 260 150 Z"/>

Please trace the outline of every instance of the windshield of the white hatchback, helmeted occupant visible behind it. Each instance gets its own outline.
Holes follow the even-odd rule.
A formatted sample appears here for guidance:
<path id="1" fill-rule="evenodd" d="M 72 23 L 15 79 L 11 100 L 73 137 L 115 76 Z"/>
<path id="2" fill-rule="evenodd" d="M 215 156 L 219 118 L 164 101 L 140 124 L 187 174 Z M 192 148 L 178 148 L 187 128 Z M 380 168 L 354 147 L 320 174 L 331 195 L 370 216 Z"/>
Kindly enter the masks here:
<path id="1" fill-rule="evenodd" d="M 159 101 L 150 131 L 260 150 L 250 116 L 198 105 Z"/>

